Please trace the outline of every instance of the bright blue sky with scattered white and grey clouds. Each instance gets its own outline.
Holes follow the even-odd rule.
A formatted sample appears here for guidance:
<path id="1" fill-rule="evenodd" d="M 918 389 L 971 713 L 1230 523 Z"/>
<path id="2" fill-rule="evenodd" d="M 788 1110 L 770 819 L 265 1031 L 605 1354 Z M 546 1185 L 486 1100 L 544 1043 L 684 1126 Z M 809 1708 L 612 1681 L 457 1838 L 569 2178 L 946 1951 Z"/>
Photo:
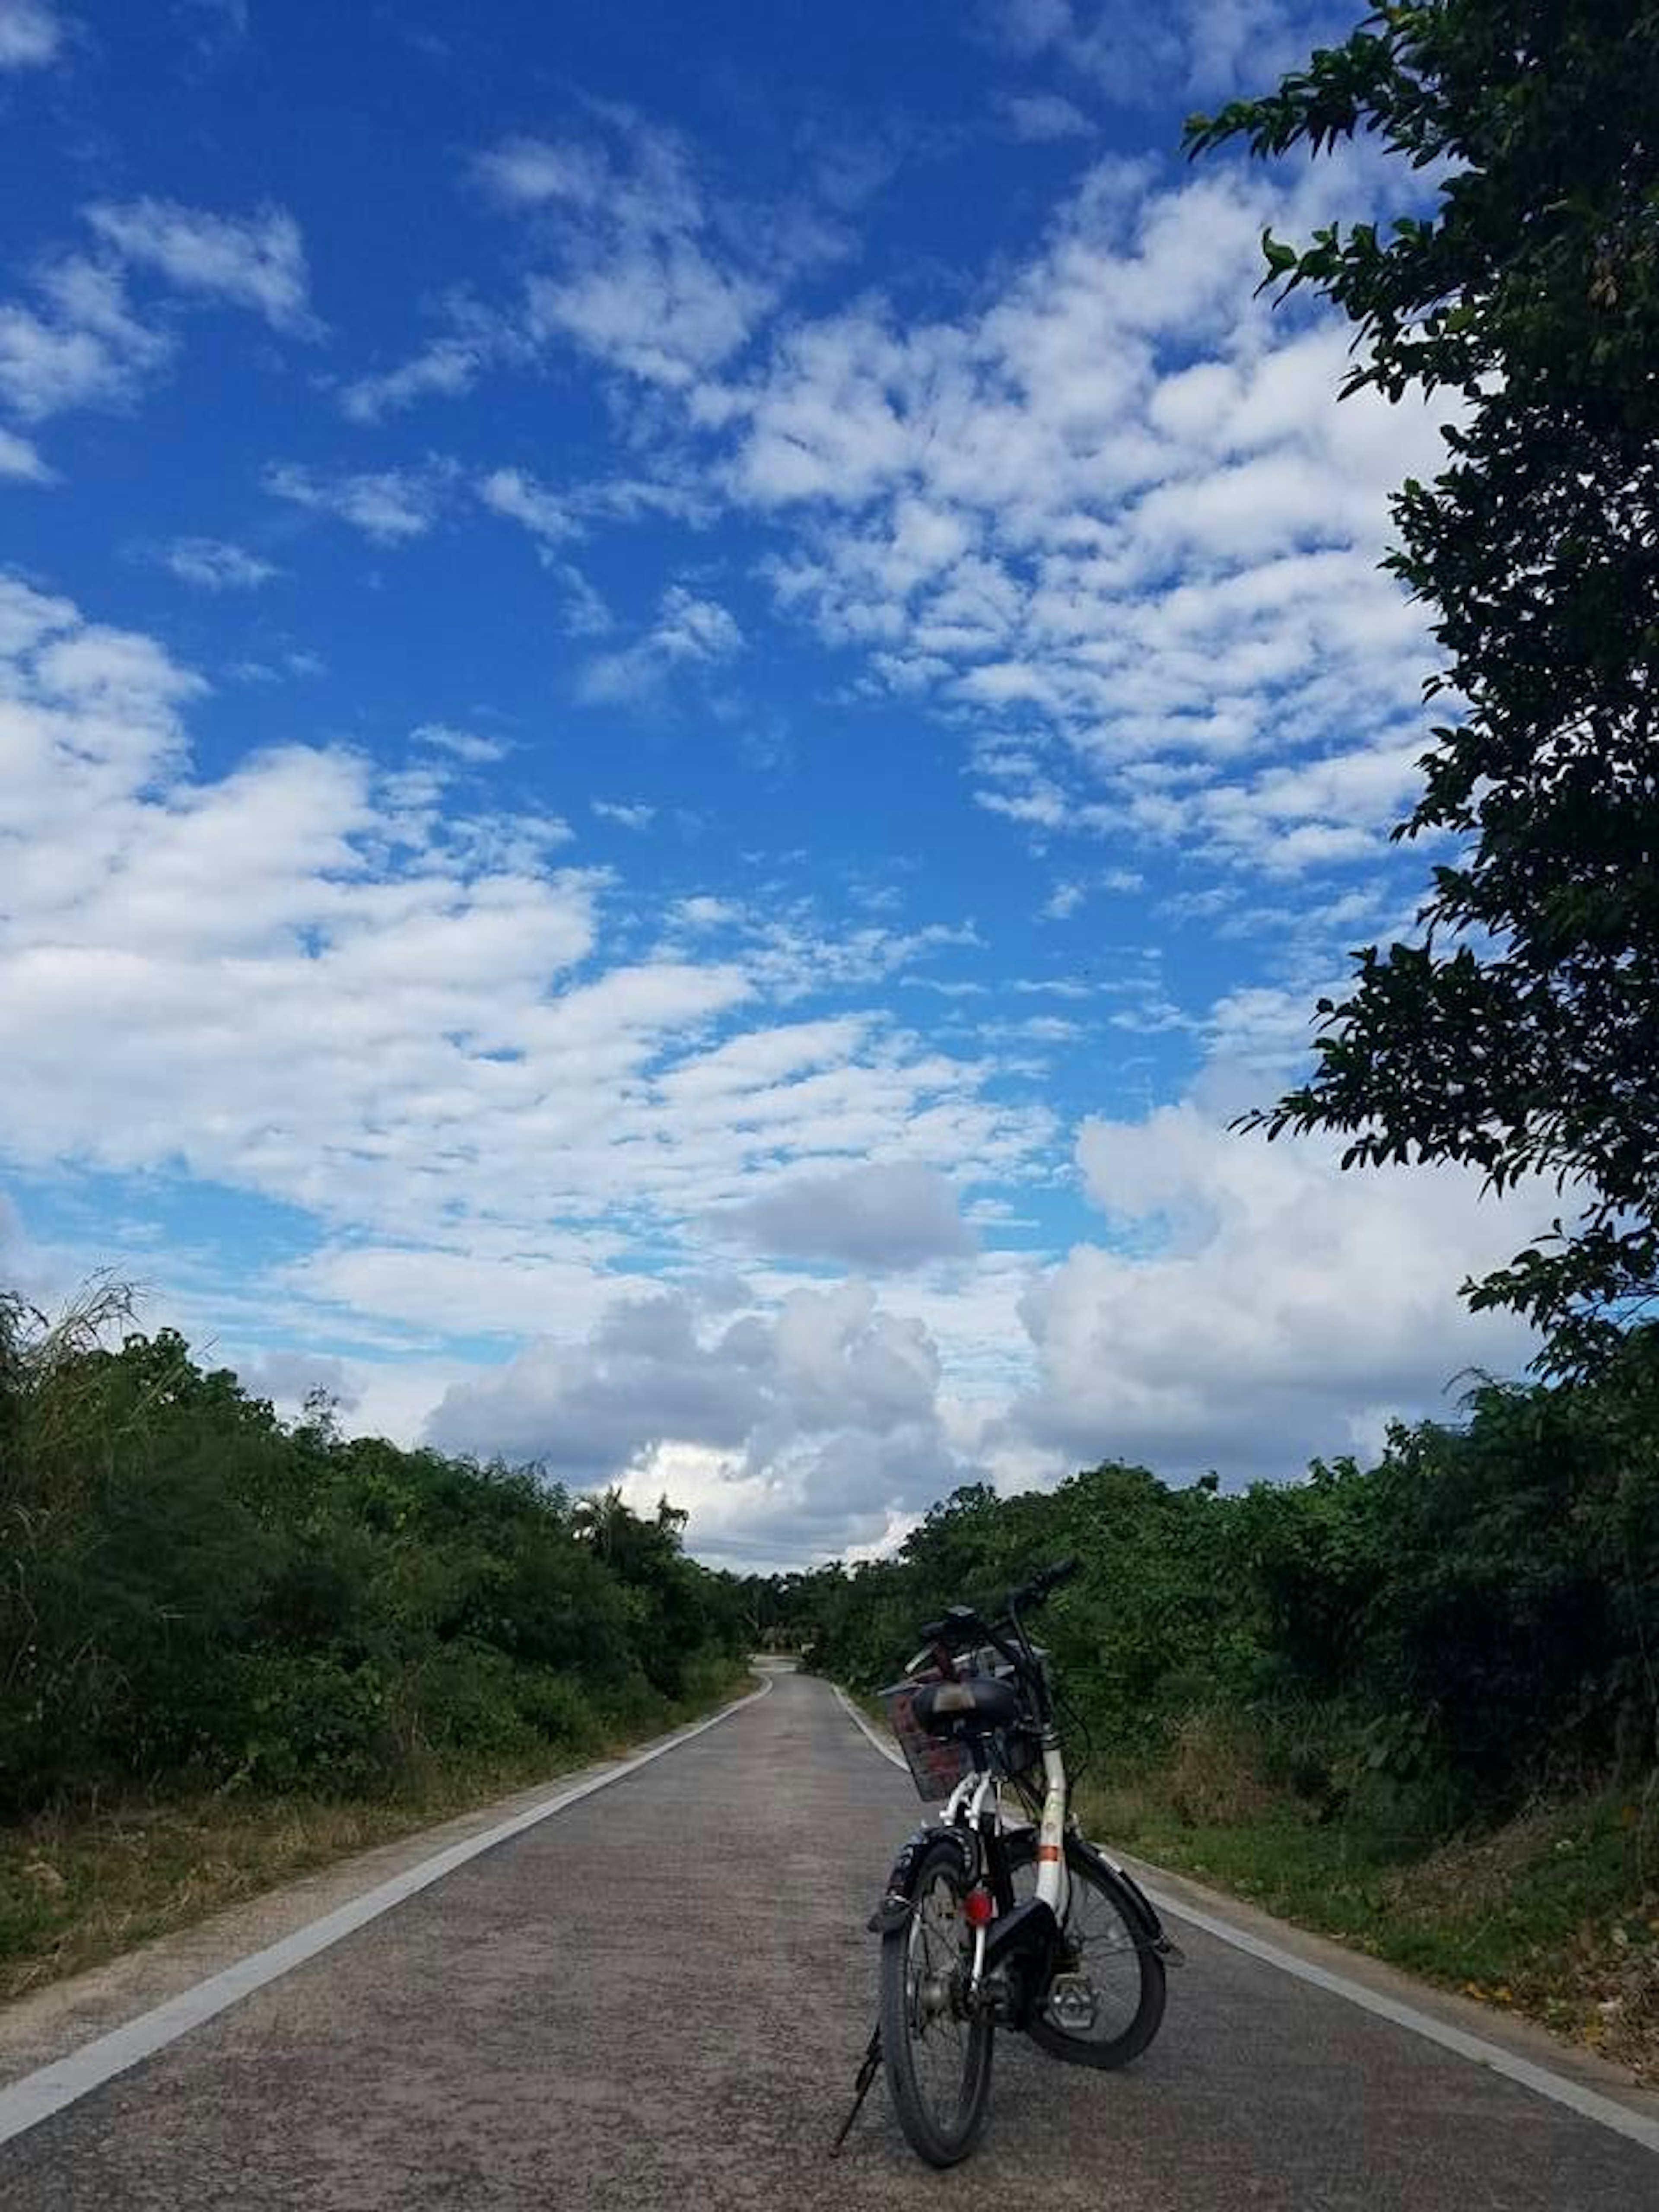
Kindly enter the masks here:
<path id="1" fill-rule="evenodd" d="M 1298 0 L 0 0 L 0 1279 L 690 1509 L 1296 1475 L 1540 1225 L 1230 1130 L 1409 931 L 1438 462 Z"/>

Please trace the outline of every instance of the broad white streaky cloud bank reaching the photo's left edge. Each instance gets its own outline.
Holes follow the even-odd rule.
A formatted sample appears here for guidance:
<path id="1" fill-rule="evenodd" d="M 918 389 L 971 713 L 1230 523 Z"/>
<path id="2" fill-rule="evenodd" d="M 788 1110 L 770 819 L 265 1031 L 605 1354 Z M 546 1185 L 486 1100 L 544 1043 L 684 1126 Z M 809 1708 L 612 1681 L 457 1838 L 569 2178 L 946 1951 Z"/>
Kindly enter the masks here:
<path id="1" fill-rule="evenodd" d="M 564 823 L 456 805 L 442 726 L 414 770 L 285 745 L 201 779 L 201 692 L 0 588 L 0 1144 L 301 1208 L 296 1329 L 580 1325 L 635 1248 L 706 1267 L 708 1219 L 790 1170 L 914 1148 L 1002 1177 L 1046 1141 L 978 1060 L 779 1011 L 927 931 L 768 914 L 641 956 L 611 880 L 555 865 Z"/>

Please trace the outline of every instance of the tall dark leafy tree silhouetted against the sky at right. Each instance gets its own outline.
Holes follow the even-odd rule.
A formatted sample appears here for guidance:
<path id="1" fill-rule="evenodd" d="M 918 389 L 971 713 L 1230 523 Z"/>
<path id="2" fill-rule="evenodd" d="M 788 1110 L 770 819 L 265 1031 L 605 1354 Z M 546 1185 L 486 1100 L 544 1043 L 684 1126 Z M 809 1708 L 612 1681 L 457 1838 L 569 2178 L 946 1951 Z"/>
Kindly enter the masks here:
<path id="1" fill-rule="evenodd" d="M 1267 232 L 1263 283 L 1352 319 L 1345 396 L 1453 400 L 1387 566 L 1431 608 L 1453 714 L 1394 834 L 1458 843 L 1420 940 L 1354 953 L 1314 1075 L 1245 1121 L 1338 1130 L 1343 1166 L 1571 1192 L 1540 1248 L 1464 1285 L 1571 1371 L 1659 1294 L 1659 7 L 1383 7 L 1186 128 L 1254 155 L 1360 133 L 1440 179 L 1431 208 Z"/>

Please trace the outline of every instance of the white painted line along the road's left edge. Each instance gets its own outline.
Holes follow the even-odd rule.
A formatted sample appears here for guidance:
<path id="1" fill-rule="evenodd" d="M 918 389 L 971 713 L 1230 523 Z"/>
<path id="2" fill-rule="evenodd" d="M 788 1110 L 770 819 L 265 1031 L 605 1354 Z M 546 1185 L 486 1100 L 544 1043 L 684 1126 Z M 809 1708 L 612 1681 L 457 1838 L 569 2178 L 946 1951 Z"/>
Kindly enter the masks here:
<path id="1" fill-rule="evenodd" d="M 29 2128 L 38 2128 L 42 2119 L 51 2119 L 53 2112 L 62 2112 L 66 2104 L 75 2104 L 91 2090 L 102 2088 L 115 2075 L 126 2073 L 128 2066 L 137 2066 L 142 2059 L 153 2057 L 168 2044 L 188 2035 L 190 2028 L 199 2028 L 204 2020 L 212 2020 L 215 2013 L 223 2013 L 228 2006 L 239 2004 L 254 1989 L 263 1989 L 265 1982 L 279 1980 L 283 1973 L 292 1973 L 294 1966 L 303 1966 L 307 1958 L 316 1958 L 319 1951 L 327 1951 L 330 1944 L 341 1942 L 356 1929 L 365 1927 L 369 1920 L 378 1920 L 380 1913 L 389 1913 L 394 1905 L 403 1905 L 405 1898 L 416 1896 L 420 1889 L 431 1889 L 456 1867 L 465 1867 L 469 1858 L 478 1858 L 484 1851 L 493 1851 L 498 1843 L 507 1843 L 511 1836 L 522 1836 L 526 1827 L 535 1827 L 538 1820 L 549 1820 L 555 1812 L 564 1812 L 566 1805 L 575 1805 L 595 1790 L 608 1790 L 611 1783 L 619 1783 L 626 1774 L 635 1774 L 639 1767 L 650 1765 L 653 1759 L 661 1759 L 664 1752 L 677 1752 L 681 1743 L 690 1743 L 692 1736 L 701 1736 L 708 1728 L 719 1728 L 734 1712 L 752 1705 L 759 1697 L 765 1697 L 772 1688 L 772 1679 L 763 1681 L 759 1690 L 750 1690 L 748 1697 L 734 1699 L 719 1712 L 712 1712 L 706 1721 L 695 1721 L 690 1728 L 681 1728 L 677 1734 L 668 1736 L 664 1743 L 653 1743 L 648 1752 L 635 1752 L 630 1759 L 617 1761 L 617 1765 L 606 1767 L 604 1774 L 595 1774 L 586 1783 L 577 1783 L 573 1790 L 562 1790 L 557 1796 L 544 1798 L 540 1805 L 531 1805 L 524 1812 L 515 1812 L 511 1820 L 500 1820 L 495 1827 L 487 1827 L 478 1836 L 467 1836 L 465 1843 L 451 1843 L 447 1851 L 438 1851 L 434 1858 L 422 1858 L 416 1867 L 405 1867 L 403 1874 L 394 1874 L 392 1880 L 380 1882 L 376 1889 L 365 1889 L 361 1898 L 352 1898 L 349 1905 L 341 1905 L 332 1913 L 323 1913 L 321 1920 L 312 1920 L 310 1927 L 294 1929 L 292 1936 L 283 1936 L 281 1942 L 268 1944 L 263 1951 L 254 1951 L 250 1958 L 237 1960 L 234 1966 L 226 1966 L 223 1973 L 210 1975 L 206 1982 L 197 1982 L 195 1989 L 179 1991 L 177 1997 L 168 1997 L 166 2004 L 157 2004 L 148 2013 L 139 2013 L 137 2020 L 128 2020 L 119 2028 L 111 2028 L 108 2035 L 100 2035 L 91 2044 L 82 2044 L 80 2051 L 71 2051 L 69 2057 L 55 2059 L 51 2066 L 38 2068 L 38 2073 L 22 2075 L 20 2081 L 11 2081 L 0 2088 L 0 2143 L 9 2143 L 13 2135 L 24 2135 Z"/>

